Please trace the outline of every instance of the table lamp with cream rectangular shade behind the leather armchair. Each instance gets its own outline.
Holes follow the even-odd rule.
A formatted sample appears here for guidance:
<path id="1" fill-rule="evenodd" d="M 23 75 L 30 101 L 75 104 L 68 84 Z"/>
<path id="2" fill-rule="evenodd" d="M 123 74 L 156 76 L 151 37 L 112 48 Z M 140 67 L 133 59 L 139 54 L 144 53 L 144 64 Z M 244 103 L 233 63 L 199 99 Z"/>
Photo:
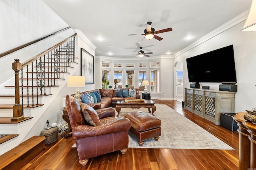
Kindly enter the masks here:
<path id="1" fill-rule="evenodd" d="M 76 87 L 74 98 L 80 102 L 80 91 L 78 87 L 85 87 L 85 76 L 68 76 L 67 86 Z"/>

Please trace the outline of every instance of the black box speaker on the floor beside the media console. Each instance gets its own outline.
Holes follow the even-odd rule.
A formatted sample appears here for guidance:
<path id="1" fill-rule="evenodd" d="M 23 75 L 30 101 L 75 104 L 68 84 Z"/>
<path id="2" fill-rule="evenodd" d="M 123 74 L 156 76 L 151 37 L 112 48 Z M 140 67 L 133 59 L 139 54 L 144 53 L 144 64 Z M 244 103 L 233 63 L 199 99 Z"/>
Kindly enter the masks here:
<path id="1" fill-rule="evenodd" d="M 230 131 L 236 131 L 238 129 L 238 125 L 236 121 L 233 119 L 233 115 L 236 113 L 221 113 L 220 114 L 220 125 L 222 127 L 226 127 Z"/>

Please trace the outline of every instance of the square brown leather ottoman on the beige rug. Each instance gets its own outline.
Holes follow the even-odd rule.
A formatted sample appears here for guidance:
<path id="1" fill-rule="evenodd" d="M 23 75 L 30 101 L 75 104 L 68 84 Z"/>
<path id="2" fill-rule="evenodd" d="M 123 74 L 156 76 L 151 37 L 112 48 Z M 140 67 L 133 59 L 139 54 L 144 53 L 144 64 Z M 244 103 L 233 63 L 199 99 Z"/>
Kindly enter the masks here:
<path id="1" fill-rule="evenodd" d="M 144 140 L 153 137 L 158 141 L 161 135 L 160 119 L 143 111 L 130 112 L 125 114 L 124 117 L 130 119 L 131 128 L 129 133 L 138 140 L 140 146 L 144 144 Z"/>

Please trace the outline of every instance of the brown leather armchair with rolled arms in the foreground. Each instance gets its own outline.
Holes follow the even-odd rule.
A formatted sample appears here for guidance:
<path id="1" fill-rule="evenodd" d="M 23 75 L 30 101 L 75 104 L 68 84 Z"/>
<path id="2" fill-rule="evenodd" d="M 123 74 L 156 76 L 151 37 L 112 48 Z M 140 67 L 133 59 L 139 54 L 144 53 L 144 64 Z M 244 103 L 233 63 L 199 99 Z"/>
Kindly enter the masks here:
<path id="1" fill-rule="evenodd" d="M 89 158 L 120 150 L 122 154 L 128 148 L 128 129 L 130 120 L 115 117 L 113 108 L 95 110 L 100 125 L 87 125 L 78 101 L 70 95 L 66 96 L 66 105 L 72 137 L 75 139 L 79 163 L 85 166 Z"/>

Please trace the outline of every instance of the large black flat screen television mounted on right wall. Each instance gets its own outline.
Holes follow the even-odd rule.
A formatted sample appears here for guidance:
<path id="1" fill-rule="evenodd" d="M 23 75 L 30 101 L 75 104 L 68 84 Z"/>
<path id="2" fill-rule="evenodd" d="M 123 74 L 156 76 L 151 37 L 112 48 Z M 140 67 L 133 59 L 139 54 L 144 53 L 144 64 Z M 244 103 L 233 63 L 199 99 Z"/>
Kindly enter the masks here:
<path id="1" fill-rule="evenodd" d="M 186 59 L 189 82 L 236 83 L 233 45 Z"/>

